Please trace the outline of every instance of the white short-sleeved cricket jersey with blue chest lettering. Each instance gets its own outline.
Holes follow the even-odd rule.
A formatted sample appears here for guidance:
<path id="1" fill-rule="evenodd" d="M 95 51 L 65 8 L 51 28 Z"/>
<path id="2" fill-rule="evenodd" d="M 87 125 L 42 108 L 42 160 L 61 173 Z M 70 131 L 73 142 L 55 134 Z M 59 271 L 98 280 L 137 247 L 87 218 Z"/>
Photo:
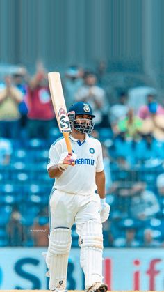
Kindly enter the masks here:
<path id="1" fill-rule="evenodd" d="M 76 164 L 74 167 L 69 165 L 61 176 L 56 178 L 54 187 L 72 194 L 91 194 L 97 190 L 96 172 L 104 169 L 101 143 L 87 134 L 82 143 L 71 135 L 69 135 L 69 139 L 72 151 L 77 156 Z M 61 137 L 51 145 L 47 169 L 58 165 L 60 155 L 65 151 L 67 151 L 65 139 Z"/>

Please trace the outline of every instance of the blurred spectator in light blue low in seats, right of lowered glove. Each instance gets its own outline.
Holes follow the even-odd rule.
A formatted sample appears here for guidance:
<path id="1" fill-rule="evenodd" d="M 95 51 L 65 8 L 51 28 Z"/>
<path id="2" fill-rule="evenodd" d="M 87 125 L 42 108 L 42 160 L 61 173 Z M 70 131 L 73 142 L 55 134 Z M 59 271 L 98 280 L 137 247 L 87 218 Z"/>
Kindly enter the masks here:
<path id="1" fill-rule="evenodd" d="M 131 216 L 139 220 L 149 220 L 160 210 L 154 192 L 146 189 L 146 184 L 139 182 L 131 188 Z"/>

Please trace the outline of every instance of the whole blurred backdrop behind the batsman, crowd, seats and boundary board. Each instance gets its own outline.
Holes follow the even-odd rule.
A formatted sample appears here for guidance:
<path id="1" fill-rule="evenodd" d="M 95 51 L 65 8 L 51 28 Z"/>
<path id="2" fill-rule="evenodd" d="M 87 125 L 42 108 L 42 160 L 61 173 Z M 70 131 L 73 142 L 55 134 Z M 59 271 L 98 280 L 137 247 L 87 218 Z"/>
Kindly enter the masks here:
<path id="1" fill-rule="evenodd" d="M 1 289 L 47 288 L 46 167 L 61 136 L 49 71 L 60 72 L 67 109 L 83 100 L 96 115 L 108 288 L 164 289 L 163 11 L 162 0 L 0 0 Z M 73 226 L 68 289 L 83 289 L 76 247 Z"/>

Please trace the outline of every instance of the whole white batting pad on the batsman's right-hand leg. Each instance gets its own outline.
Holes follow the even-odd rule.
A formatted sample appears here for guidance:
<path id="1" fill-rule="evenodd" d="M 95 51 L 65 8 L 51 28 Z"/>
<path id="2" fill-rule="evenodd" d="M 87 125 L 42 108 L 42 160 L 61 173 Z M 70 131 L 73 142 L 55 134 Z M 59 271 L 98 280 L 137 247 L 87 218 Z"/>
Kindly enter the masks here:
<path id="1" fill-rule="evenodd" d="M 102 224 L 90 220 L 83 224 L 79 237 L 81 247 L 81 268 L 85 274 L 85 288 L 88 289 L 95 282 L 102 282 Z"/>

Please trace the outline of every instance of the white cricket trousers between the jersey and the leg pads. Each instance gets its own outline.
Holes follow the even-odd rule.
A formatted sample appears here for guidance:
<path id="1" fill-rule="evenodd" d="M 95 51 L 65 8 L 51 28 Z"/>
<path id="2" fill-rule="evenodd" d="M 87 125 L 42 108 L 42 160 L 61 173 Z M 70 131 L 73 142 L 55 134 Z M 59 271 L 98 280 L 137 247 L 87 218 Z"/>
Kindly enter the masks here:
<path id="1" fill-rule="evenodd" d="M 54 190 L 49 198 L 50 230 L 57 227 L 72 228 L 81 236 L 83 224 L 88 220 L 100 220 L 101 202 L 99 194 L 79 195 Z"/>

